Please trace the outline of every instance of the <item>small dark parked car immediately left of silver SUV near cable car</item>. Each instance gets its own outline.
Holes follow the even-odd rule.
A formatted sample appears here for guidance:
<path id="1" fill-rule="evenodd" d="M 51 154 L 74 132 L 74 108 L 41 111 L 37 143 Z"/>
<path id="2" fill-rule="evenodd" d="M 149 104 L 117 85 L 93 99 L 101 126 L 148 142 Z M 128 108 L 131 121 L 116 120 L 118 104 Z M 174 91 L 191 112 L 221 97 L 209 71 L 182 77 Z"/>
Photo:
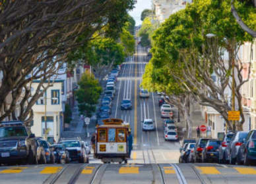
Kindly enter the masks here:
<path id="1" fill-rule="evenodd" d="M 61 144 L 51 145 L 53 154 L 55 156 L 55 162 L 60 164 L 67 164 L 70 161 L 69 152 L 65 150 L 65 147 Z"/>

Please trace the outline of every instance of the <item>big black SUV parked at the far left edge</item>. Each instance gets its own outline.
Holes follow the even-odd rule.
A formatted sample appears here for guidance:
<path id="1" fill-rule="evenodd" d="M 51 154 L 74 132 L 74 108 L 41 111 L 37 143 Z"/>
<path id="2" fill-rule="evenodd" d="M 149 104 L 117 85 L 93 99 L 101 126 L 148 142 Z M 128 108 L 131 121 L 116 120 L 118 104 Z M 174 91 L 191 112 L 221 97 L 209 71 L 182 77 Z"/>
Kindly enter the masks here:
<path id="1" fill-rule="evenodd" d="M 0 164 L 36 164 L 36 152 L 35 135 L 30 133 L 23 122 L 0 122 Z"/>

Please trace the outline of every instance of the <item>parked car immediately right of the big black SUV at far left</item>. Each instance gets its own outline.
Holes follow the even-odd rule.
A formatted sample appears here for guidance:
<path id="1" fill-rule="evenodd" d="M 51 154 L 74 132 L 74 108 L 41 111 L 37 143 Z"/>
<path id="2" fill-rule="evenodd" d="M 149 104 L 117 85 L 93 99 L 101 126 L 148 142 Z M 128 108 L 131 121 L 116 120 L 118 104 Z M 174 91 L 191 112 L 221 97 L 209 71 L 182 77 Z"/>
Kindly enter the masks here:
<path id="1" fill-rule="evenodd" d="M 40 152 L 40 154 L 37 154 L 38 163 L 41 162 L 41 164 L 54 164 L 55 156 L 53 150 L 50 149 L 48 141 L 44 140 L 42 137 L 36 137 L 36 142 L 38 143 L 37 153 Z M 43 148 L 44 151 L 40 150 L 40 148 Z"/>

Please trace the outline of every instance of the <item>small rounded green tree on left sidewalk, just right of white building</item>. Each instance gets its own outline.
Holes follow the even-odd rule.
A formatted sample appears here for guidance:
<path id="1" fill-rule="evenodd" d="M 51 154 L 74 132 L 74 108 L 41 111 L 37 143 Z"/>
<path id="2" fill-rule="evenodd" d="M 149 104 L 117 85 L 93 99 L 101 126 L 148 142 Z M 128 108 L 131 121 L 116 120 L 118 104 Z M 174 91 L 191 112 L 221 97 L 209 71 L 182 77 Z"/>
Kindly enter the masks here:
<path id="1" fill-rule="evenodd" d="M 82 74 L 79 81 L 79 89 L 75 91 L 77 102 L 79 103 L 79 112 L 86 117 L 91 117 L 96 110 L 96 104 L 102 93 L 102 87 L 93 74 L 88 72 Z"/>

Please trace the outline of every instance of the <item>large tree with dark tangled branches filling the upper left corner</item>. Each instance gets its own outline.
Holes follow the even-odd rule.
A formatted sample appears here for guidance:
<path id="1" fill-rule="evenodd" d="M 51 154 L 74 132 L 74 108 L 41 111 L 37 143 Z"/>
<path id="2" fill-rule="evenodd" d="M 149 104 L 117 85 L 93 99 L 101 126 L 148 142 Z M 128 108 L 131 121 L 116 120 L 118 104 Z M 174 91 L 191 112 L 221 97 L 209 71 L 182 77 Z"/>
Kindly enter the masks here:
<path id="1" fill-rule="evenodd" d="M 99 30 L 106 36 L 119 35 L 133 5 L 133 0 L 1 1 L 0 120 L 12 115 L 30 120 L 32 105 L 47 89 L 40 93 L 40 87 L 56 74 L 67 53 Z M 30 93 L 33 80 L 42 81 L 34 95 Z M 8 95 L 11 102 L 7 103 Z M 13 113 L 17 105 L 18 117 Z"/>

